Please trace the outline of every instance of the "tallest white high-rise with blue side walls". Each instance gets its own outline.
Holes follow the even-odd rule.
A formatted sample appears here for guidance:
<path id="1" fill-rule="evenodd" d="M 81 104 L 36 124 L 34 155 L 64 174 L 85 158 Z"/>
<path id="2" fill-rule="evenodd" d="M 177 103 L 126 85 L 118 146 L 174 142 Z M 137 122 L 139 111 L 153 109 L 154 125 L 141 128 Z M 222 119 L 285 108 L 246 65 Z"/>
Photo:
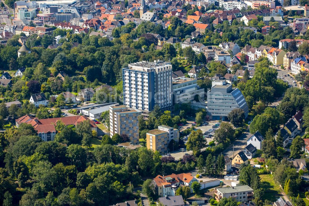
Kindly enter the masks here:
<path id="1" fill-rule="evenodd" d="M 122 69 L 123 104 L 142 111 L 144 116 L 155 104 L 172 109 L 173 86 L 170 62 L 137 62 Z"/>

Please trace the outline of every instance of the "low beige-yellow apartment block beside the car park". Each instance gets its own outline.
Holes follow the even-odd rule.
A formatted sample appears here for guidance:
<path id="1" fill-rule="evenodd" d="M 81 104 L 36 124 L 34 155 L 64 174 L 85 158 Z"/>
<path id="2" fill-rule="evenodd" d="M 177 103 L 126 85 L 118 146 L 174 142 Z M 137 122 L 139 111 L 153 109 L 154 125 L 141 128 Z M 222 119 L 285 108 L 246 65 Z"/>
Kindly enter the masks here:
<path id="1" fill-rule="evenodd" d="M 168 126 L 159 126 L 146 134 L 147 149 L 158 151 L 160 154 L 168 152 L 168 144 L 171 140 L 179 141 L 179 130 Z"/>

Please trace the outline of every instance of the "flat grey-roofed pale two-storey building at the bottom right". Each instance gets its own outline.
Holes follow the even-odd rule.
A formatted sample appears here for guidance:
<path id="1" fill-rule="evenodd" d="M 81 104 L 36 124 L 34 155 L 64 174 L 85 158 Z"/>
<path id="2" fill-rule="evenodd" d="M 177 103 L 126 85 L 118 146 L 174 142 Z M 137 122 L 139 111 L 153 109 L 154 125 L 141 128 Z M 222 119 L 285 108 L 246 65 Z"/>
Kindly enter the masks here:
<path id="1" fill-rule="evenodd" d="M 248 185 L 217 188 L 217 191 L 214 194 L 218 201 L 224 197 L 233 197 L 237 202 L 245 202 L 253 199 L 253 189 Z"/>

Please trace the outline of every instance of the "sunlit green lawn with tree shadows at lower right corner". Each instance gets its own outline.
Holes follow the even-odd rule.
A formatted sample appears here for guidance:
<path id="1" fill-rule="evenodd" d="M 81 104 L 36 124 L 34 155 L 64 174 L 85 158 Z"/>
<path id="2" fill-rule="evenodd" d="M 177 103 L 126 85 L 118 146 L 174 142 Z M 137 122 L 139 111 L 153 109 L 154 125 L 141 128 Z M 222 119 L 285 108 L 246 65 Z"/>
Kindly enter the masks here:
<path id="1" fill-rule="evenodd" d="M 275 183 L 272 174 L 261 174 L 261 188 L 265 189 L 265 193 L 262 197 L 263 200 L 269 200 L 275 202 L 280 197 L 281 188 Z"/>

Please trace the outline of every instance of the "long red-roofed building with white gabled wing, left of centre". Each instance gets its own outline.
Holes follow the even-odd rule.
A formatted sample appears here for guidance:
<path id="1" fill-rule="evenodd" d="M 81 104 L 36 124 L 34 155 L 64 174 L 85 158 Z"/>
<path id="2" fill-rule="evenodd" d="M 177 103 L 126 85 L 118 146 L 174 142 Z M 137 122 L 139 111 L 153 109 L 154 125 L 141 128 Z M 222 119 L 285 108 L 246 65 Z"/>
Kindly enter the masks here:
<path id="1" fill-rule="evenodd" d="M 15 125 L 18 128 L 21 123 L 31 124 L 34 127 L 34 130 L 37 131 L 38 136 L 43 141 L 53 141 L 57 131 L 55 125 L 58 121 L 63 122 L 64 125 L 74 125 L 78 123 L 89 120 L 84 116 L 70 116 L 70 117 L 58 117 L 58 118 L 47 118 L 47 119 L 38 119 L 32 116 L 24 115 L 15 120 Z M 96 131 L 97 126 L 95 122 L 90 121 L 91 130 Z"/>

